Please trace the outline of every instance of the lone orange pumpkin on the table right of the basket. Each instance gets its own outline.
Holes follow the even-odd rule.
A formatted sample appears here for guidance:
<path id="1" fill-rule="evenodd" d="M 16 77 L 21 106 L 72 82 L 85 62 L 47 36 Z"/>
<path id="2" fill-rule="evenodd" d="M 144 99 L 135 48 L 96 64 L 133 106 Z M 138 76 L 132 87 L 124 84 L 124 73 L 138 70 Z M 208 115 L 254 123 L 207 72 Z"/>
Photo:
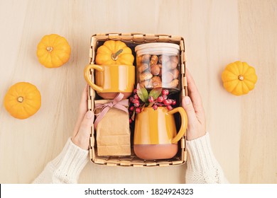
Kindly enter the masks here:
<path id="1" fill-rule="evenodd" d="M 224 88 L 234 95 L 244 95 L 254 89 L 257 81 L 256 71 L 246 62 L 228 64 L 222 72 Z"/>

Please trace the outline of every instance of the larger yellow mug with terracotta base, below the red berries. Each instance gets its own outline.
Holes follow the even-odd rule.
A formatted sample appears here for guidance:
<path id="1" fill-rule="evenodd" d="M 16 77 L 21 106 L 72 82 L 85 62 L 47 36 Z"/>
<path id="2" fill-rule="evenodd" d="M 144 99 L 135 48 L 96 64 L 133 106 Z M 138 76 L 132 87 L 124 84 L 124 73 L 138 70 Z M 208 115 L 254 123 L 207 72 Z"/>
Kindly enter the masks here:
<path id="1" fill-rule="evenodd" d="M 181 123 L 176 132 L 174 114 L 180 113 Z M 146 160 L 173 158 L 178 152 L 178 141 L 185 134 L 188 117 L 183 107 L 168 111 L 166 107 L 145 107 L 136 115 L 134 152 Z"/>

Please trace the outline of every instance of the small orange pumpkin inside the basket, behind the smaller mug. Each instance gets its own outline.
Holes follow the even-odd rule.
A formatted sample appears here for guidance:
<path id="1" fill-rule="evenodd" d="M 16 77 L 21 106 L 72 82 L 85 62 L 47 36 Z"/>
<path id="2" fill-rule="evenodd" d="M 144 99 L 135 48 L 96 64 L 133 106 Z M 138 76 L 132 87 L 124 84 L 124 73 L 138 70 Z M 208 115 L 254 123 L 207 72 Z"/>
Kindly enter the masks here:
<path id="1" fill-rule="evenodd" d="M 96 64 L 126 64 L 133 65 L 134 56 L 129 47 L 120 40 L 107 40 L 98 47 L 95 58 Z"/>

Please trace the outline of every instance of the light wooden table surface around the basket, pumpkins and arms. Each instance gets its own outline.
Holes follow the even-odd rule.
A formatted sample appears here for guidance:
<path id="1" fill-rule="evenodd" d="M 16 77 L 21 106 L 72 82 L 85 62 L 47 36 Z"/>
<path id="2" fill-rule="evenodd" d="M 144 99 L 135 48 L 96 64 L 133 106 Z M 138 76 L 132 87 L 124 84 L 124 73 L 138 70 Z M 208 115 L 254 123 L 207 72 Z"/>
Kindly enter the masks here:
<path id="1" fill-rule="evenodd" d="M 185 37 L 187 66 L 202 95 L 214 155 L 232 183 L 277 183 L 277 1 L 0 0 L 0 182 L 28 183 L 60 153 L 77 119 L 82 76 L 95 33 Z M 36 57 L 43 35 L 72 47 L 70 61 L 47 69 Z M 254 66 L 256 88 L 236 97 L 222 86 L 230 62 Z M 4 109 L 11 85 L 28 81 L 40 110 L 16 120 Z M 88 163 L 82 183 L 183 183 L 185 165 L 123 168 Z"/>

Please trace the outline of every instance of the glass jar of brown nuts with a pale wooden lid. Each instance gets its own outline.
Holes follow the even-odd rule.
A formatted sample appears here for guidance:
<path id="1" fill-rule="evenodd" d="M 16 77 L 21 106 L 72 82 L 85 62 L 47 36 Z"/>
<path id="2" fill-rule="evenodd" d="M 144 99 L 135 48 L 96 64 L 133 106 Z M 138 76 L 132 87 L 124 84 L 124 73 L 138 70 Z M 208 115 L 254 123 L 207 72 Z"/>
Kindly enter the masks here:
<path id="1" fill-rule="evenodd" d="M 180 91 L 179 45 L 155 42 L 137 45 L 136 83 L 146 89 L 166 88 L 171 92 Z"/>

